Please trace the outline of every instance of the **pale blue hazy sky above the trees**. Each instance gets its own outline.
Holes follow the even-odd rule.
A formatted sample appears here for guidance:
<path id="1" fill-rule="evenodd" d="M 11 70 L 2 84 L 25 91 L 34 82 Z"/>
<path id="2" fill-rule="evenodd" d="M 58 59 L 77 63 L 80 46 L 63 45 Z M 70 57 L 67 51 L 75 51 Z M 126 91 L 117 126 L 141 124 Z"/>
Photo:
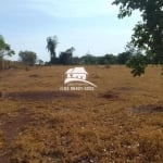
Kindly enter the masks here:
<path id="1" fill-rule="evenodd" d="M 0 35 L 15 51 L 30 50 L 49 61 L 47 37 L 58 36 L 57 55 L 74 47 L 74 57 L 104 55 L 124 51 L 140 20 L 117 18 L 113 0 L 0 0 Z"/>

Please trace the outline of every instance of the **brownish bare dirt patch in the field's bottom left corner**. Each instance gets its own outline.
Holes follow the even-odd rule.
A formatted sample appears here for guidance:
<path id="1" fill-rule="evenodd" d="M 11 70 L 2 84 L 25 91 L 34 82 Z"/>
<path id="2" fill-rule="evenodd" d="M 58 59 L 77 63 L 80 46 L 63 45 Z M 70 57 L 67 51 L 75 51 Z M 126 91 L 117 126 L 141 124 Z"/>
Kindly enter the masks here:
<path id="1" fill-rule="evenodd" d="M 10 145 L 23 131 L 26 124 L 30 122 L 30 114 L 26 110 L 21 110 L 15 117 L 3 117 L 2 131 L 4 133 L 7 148 L 0 151 L 0 163 L 10 163 Z"/>

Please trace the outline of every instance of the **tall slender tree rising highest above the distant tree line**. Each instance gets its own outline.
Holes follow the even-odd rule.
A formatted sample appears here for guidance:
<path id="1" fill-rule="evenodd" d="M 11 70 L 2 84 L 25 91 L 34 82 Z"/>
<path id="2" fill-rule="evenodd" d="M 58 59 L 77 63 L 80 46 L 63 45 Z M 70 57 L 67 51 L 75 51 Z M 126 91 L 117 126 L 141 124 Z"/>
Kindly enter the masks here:
<path id="1" fill-rule="evenodd" d="M 50 63 L 55 63 L 55 49 L 58 46 L 58 37 L 57 36 L 50 36 L 47 38 L 47 49 L 50 52 Z"/>

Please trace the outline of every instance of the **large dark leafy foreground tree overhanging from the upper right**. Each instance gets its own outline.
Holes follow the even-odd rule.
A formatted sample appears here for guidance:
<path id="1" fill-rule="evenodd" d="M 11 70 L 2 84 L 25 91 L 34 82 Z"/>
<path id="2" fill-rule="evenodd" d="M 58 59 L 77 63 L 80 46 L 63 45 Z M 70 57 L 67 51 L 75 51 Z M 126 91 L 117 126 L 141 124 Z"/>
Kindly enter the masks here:
<path id="1" fill-rule="evenodd" d="M 130 16 L 134 10 L 139 10 L 142 21 L 134 28 L 131 43 L 146 51 L 154 60 L 154 64 L 163 64 L 163 0 L 114 0 L 113 4 L 120 5 L 118 17 Z M 143 58 L 138 57 L 139 68 L 136 64 L 130 67 L 145 72 Z M 141 65 L 142 64 L 142 65 Z"/>

